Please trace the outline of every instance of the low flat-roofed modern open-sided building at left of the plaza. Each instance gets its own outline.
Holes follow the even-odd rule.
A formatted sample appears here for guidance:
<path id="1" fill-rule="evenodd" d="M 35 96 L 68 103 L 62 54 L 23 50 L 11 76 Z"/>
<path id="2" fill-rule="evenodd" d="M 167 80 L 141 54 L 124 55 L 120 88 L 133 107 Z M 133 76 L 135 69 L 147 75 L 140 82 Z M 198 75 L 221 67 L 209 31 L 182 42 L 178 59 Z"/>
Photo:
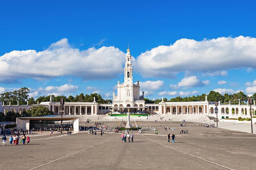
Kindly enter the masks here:
<path id="1" fill-rule="evenodd" d="M 40 128 L 57 128 L 60 125 L 61 120 L 67 122 L 72 121 L 72 123 L 64 123 L 66 127 L 72 125 L 74 131 L 79 130 L 79 117 L 65 117 L 57 116 L 57 115 L 47 115 L 43 117 L 19 117 L 16 119 L 17 128 L 23 130 L 39 130 Z"/>

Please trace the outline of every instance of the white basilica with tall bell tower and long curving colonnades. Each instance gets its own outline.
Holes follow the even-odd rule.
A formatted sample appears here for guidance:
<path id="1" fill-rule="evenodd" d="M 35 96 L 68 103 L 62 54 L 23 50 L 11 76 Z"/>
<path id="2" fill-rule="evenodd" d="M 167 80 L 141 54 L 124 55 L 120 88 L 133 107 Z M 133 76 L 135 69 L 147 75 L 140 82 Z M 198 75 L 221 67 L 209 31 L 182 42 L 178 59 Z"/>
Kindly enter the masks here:
<path id="1" fill-rule="evenodd" d="M 60 102 L 53 102 L 52 98 L 48 102 L 38 103 L 36 105 L 11 105 L 0 102 L 0 112 L 22 113 L 33 106 L 44 106 L 53 111 L 56 115 L 62 113 L 66 115 L 97 115 L 97 114 L 126 114 L 128 109 L 132 114 L 202 114 L 218 119 L 250 117 L 249 105 L 221 104 L 218 103 L 216 108 L 213 101 L 195 101 L 195 102 L 165 102 L 157 104 L 145 104 L 144 92 L 140 96 L 140 82 L 133 82 L 132 61 L 130 49 L 128 47 L 126 53 L 126 61 L 124 66 L 124 82 L 117 82 L 117 93 L 113 92 L 112 104 L 99 104 L 95 100 L 93 102 L 66 102 L 64 107 L 60 106 Z M 255 101 L 252 104 L 252 112 L 256 109 Z"/>

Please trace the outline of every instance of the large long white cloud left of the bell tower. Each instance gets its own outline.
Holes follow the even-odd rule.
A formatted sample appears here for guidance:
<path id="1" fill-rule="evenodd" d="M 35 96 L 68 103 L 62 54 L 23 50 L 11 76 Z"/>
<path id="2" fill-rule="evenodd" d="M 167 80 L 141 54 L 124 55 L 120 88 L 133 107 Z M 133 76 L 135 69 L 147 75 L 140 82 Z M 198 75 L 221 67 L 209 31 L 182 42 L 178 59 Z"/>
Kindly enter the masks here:
<path id="1" fill-rule="evenodd" d="M 14 50 L 0 56 L 0 82 L 67 75 L 84 80 L 109 79 L 123 72 L 124 61 L 125 54 L 118 48 L 93 47 L 80 51 L 63 38 L 44 51 Z"/>

